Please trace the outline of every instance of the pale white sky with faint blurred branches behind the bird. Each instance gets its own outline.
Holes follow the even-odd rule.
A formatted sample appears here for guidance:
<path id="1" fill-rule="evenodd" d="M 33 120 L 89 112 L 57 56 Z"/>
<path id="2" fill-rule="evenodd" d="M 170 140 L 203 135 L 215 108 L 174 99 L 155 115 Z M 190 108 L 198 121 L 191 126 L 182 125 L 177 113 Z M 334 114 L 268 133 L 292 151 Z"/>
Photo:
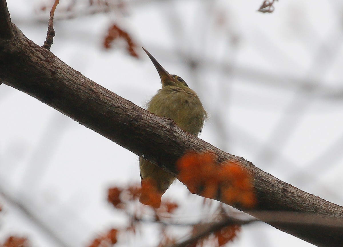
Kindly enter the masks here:
<path id="1" fill-rule="evenodd" d="M 108 27 L 119 24 L 198 93 L 211 116 L 200 138 L 343 205 L 342 1 L 281 0 L 272 14 L 256 11 L 262 0 L 128 1 L 127 13 L 58 20 L 65 2 L 57 7 L 51 47 L 62 61 L 143 107 L 161 87 L 158 73 L 143 50 L 135 59 L 120 42 L 102 48 Z M 48 15 L 35 9 L 44 3 L 8 1 L 12 22 L 38 45 Z M 35 247 L 82 247 L 125 224 L 106 193 L 139 181 L 137 156 L 6 85 L 0 115 L 0 190 L 8 196 L 1 198 L 1 242 L 13 234 Z M 185 220 L 197 221 L 202 200 L 186 195 L 177 182 L 165 196 L 183 204 Z M 121 246 L 156 246 L 152 235 Z M 230 246 L 313 245 L 256 223 Z"/>

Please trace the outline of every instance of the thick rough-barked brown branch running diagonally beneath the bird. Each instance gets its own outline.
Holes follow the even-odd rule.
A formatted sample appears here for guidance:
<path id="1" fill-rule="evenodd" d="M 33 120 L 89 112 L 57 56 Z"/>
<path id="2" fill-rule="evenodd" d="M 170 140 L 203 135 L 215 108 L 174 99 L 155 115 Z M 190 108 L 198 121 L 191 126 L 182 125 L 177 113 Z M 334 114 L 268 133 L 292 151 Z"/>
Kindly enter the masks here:
<path id="1" fill-rule="evenodd" d="M 15 25 L 6 27 L 9 14 L 5 1 L 0 1 L 0 81 L 4 84 L 26 92 L 174 174 L 175 161 L 188 150 L 211 150 L 218 162 L 239 163 L 251 173 L 258 199 L 249 214 L 315 245 L 343 246 L 342 207 L 278 180 L 251 162 L 185 133 L 173 121 L 158 118 L 84 77 L 28 40 Z M 275 222 L 269 211 L 311 213 L 338 224 Z"/>

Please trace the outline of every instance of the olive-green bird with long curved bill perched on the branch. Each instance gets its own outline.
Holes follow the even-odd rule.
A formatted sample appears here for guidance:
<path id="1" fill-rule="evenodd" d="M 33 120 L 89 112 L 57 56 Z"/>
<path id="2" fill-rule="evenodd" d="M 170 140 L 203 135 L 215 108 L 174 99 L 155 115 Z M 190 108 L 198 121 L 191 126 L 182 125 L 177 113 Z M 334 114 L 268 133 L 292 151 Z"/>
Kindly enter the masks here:
<path id="1" fill-rule="evenodd" d="M 157 116 L 173 119 L 182 130 L 198 136 L 207 119 L 207 113 L 198 95 L 180 76 L 169 74 L 149 52 L 144 48 L 143 50 L 155 65 L 162 83 L 162 88 L 146 104 L 146 109 Z M 162 195 L 175 177 L 141 157 L 139 167 L 142 183 L 140 202 L 159 208 Z M 145 189 L 144 186 L 148 181 L 154 186 L 155 194 L 152 197 L 149 196 L 151 189 Z"/>

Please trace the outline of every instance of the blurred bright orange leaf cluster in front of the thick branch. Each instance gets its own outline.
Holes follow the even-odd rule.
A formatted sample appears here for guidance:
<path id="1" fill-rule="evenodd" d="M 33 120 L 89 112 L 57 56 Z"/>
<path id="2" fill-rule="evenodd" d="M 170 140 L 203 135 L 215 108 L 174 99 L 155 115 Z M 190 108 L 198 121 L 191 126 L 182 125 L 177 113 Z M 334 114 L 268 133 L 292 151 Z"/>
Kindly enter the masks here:
<path id="1" fill-rule="evenodd" d="M 212 152 L 191 152 L 182 156 L 176 165 L 179 180 L 187 185 L 191 193 L 199 193 L 202 189 L 204 197 L 221 199 L 228 204 L 240 203 L 246 208 L 256 203 L 249 173 L 234 162 L 217 164 Z"/>

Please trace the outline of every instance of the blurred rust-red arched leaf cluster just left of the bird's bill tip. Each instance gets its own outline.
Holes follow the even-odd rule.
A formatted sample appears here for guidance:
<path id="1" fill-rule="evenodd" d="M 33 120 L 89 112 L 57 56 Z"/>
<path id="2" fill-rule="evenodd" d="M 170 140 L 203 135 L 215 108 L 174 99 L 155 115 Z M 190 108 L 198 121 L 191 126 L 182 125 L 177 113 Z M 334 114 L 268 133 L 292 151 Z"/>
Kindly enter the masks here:
<path id="1" fill-rule="evenodd" d="M 113 24 L 108 29 L 107 35 L 104 39 L 104 47 L 106 49 L 111 48 L 111 43 L 118 38 L 124 39 L 127 43 L 127 51 L 131 54 L 132 57 L 138 58 L 138 54 L 135 51 L 137 45 L 133 42 L 132 37 L 116 24 Z"/>

